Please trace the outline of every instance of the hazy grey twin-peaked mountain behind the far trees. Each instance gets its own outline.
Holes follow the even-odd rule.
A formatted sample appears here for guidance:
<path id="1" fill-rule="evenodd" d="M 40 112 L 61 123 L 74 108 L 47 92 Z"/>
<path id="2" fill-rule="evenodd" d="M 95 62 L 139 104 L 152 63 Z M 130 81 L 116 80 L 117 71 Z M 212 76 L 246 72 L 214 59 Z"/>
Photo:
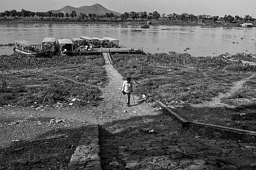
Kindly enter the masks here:
<path id="1" fill-rule="evenodd" d="M 67 5 L 66 7 L 63 7 L 62 9 L 58 10 L 50 10 L 52 13 L 72 13 L 72 11 L 76 11 L 76 15 L 80 15 L 80 13 L 85 13 L 86 15 L 92 13 L 96 15 L 103 15 L 105 13 L 113 13 L 113 15 L 121 15 L 121 13 L 110 11 L 109 9 L 106 9 L 102 5 L 96 3 L 92 6 L 82 6 L 82 7 L 71 7 Z"/>

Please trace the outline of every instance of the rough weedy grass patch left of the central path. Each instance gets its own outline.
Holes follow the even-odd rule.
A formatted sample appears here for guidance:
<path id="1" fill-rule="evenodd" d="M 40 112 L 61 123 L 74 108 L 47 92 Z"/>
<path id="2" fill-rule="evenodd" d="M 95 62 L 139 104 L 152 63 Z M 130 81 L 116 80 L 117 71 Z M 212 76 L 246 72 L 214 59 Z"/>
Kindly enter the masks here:
<path id="1" fill-rule="evenodd" d="M 0 64 L 5 67 L 0 79 L 0 106 L 56 103 L 96 106 L 101 95 L 99 87 L 107 81 L 101 56 L 21 58 L 11 55 L 3 56 Z"/>

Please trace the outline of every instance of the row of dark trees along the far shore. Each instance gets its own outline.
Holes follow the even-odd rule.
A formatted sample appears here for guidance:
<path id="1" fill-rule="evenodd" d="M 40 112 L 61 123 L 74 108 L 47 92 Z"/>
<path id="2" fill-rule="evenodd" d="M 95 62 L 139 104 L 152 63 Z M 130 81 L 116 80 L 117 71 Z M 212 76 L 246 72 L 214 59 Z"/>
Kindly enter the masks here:
<path id="1" fill-rule="evenodd" d="M 166 15 L 165 13 L 160 15 L 157 11 L 154 11 L 153 13 L 147 13 L 146 11 L 136 13 L 135 11 L 131 11 L 130 13 L 125 12 L 121 15 L 114 15 L 113 13 L 105 13 L 104 15 L 96 15 L 95 13 L 89 13 L 88 15 L 86 13 L 80 13 L 77 14 L 76 11 L 72 11 L 72 13 L 52 13 L 52 11 L 47 12 L 32 12 L 27 11 L 25 9 L 22 9 L 21 11 L 16 11 L 15 9 L 11 11 L 5 11 L 3 13 L 0 13 L 0 17 L 55 17 L 55 18 L 63 18 L 63 17 L 71 17 L 76 18 L 79 17 L 80 19 L 91 19 L 91 20 L 98 20 L 98 19 L 115 19 L 115 21 L 119 18 L 121 21 L 127 21 L 127 19 L 131 18 L 133 20 L 135 19 L 159 19 L 162 16 L 162 18 L 169 19 L 169 20 L 179 20 L 179 21 L 197 21 L 198 19 L 201 19 L 202 21 L 225 21 L 225 22 L 234 22 L 234 21 L 251 21 L 253 22 L 255 19 L 251 17 L 250 15 L 245 15 L 245 17 L 239 17 L 238 15 L 235 15 L 235 17 L 231 15 L 225 15 L 224 17 L 219 16 L 213 16 L 208 17 L 209 15 L 192 15 L 188 13 L 182 13 L 181 15 L 178 15 L 176 13 L 172 13 L 169 15 Z"/>

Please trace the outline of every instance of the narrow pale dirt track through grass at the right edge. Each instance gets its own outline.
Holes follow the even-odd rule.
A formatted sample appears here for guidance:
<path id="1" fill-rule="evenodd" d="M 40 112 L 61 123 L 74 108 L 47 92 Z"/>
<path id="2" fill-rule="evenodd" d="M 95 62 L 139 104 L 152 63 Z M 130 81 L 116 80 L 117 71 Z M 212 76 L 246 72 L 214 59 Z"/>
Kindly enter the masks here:
<path id="1" fill-rule="evenodd" d="M 231 90 L 228 93 L 220 93 L 220 95 L 218 95 L 216 98 L 213 98 L 212 101 L 208 101 L 206 103 L 200 103 L 197 105 L 192 105 L 194 107 L 197 108 L 202 108 L 202 107 L 216 107 L 216 106 L 227 106 L 229 108 L 234 108 L 235 106 L 231 106 L 231 105 L 227 105 L 225 103 L 221 102 L 221 99 L 224 97 L 229 97 L 231 95 L 233 95 L 236 91 L 238 91 L 239 89 L 241 89 L 243 87 L 243 84 L 246 83 L 246 81 L 249 81 L 249 79 L 255 77 L 255 73 L 253 73 L 253 75 L 251 75 L 250 77 L 247 77 L 245 79 L 242 79 L 240 81 L 236 81 L 234 83 L 234 85 L 231 87 Z"/>

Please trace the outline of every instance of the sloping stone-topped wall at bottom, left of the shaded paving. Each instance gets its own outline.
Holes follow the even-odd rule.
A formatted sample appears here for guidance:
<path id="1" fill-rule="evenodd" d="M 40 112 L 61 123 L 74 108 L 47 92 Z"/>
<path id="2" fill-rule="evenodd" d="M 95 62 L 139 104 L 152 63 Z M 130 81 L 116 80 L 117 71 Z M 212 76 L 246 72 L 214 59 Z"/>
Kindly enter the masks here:
<path id="1" fill-rule="evenodd" d="M 88 126 L 68 163 L 67 170 L 100 170 L 98 125 Z"/>

